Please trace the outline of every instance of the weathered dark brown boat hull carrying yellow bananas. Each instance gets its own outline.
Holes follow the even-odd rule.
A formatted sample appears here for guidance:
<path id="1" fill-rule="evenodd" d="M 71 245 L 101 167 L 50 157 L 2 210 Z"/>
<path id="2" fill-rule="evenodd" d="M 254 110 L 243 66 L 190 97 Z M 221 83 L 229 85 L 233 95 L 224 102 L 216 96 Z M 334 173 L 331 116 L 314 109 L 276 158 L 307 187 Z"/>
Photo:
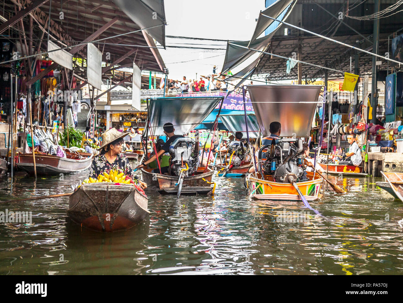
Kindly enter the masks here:
<path id="1" fill-rule="evenodd" d="M 148 198 L 131 185 L 89 183 L 69 197 L 67 215 L 91 230 L 128 229 L 143 221 L 150 212 Z"/>

